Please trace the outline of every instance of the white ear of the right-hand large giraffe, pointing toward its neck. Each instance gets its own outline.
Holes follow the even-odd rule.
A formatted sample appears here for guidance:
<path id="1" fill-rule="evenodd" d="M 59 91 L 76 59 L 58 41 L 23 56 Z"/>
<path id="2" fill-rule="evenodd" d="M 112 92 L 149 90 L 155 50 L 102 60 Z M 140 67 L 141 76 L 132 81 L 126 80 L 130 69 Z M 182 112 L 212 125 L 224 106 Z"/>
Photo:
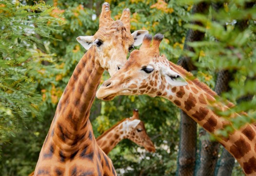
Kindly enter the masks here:
<path id="1" fill-rule="evenodd" d="M 187 85 L 187 81 L 181 77 L 178 73 L 174 72 L 170 68 L 166 68 L 165 70 L 161 70 L 161 75 L 166 79 L 167 83 L 171 86 L 185 86 Z"/>

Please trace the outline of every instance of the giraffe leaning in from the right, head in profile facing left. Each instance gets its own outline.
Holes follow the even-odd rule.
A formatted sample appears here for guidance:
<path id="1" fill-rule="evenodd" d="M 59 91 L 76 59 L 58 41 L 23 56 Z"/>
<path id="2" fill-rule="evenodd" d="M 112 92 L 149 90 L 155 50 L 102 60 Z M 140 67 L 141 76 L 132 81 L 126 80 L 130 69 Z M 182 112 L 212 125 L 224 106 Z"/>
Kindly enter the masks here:
<path id="1" fill-rule="evenodd" d="M 247 176 L 256 176 L 256 128 L 246 123 L 235 129 L 228 118 L 214 111 L 225 111 L 234 106 L 217 101 L 217 94 L 206 84 L 164 55 L 159 55 L 163 35 L 146 35 L 139 50 L 134 50 L 125 65 L 110 79 L 104 81 L 97 98 L 111 100 L 118 95 L 160 96 L 172 101 L 211 133 L 236 158 Z M 219 133 L 229 126 L 233 129 L 227 136 Z"/>

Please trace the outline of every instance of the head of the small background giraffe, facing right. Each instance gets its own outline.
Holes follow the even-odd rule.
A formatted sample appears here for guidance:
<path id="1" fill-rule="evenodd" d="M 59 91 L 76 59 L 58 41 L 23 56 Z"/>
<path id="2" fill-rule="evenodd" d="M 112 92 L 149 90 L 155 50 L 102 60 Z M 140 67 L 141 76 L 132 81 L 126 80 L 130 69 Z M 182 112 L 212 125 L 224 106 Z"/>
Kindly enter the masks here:
<path id="1" fill-rule="evenodd" d="M 144 147 L 149 152 L 156 152 L 155 146 L 146 132 L 143 121 L 139 120 L 137 109 L 133 111 L 133 117 L 127 118 L 127 120 L 124 121 L 124 124 L 125 123 L 127 124 L 123 126 L 128 127 L 126 127 L 125 138 Z"/>

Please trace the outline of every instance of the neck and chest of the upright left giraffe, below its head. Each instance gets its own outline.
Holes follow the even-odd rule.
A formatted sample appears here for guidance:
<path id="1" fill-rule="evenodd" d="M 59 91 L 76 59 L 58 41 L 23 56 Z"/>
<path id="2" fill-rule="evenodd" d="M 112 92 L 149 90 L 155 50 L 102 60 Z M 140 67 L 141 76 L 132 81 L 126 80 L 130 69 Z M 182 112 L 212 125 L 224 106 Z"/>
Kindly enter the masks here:
<path id="1" fill-rule="evenodd" d="M 75 68 L 41 148 L 35 175 L 77 175 L 79 171 L 116 176 L 112 161 L 97 145 L 89 120 L 104 71 L 96 63 L 96 57 L 96 48 L 91 47 Z M 86 163 L 86 167 L 80 163 Z"/>

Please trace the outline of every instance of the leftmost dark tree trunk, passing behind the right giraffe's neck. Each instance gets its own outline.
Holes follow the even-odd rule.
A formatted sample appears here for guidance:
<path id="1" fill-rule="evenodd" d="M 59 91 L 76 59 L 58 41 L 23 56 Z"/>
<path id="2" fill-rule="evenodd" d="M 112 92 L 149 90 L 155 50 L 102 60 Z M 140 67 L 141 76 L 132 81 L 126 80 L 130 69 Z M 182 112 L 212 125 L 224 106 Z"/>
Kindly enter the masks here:
<path id="1" fill-rule="evenodd" d="M 201 2 L 193 7 L 192 13 L 208 12 L 209 5 Z M 194 21 L 193 23 L 199 22 Z M 189 30 L 184 43 L 184 50 L 193 51 L 194 49 L 187 45 L 187 42 L 200 41 L 204 38 L 203 32 Z M 196 70 L 191 58 L 181 56 L 178 59 L 178 65 L 187 71 Z M 178 154 L 177 176 L 194 176 L 197 153 L 197 122 L 180 110 L 180 142 Z"/>

